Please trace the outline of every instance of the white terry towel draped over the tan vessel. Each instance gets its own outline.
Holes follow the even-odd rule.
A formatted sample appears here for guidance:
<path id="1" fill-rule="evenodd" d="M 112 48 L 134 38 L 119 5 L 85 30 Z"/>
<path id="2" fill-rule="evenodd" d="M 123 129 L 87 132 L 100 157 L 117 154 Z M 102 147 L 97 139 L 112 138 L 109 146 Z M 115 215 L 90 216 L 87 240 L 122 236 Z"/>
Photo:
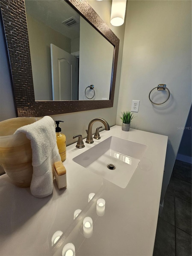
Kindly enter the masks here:
<path id="1" fill-rule="evenodd" d="M 55 136 L 55 123 L 50 116 L 44 116 L 35 123 L 18 128 L 14 134 L 19 132 L 25 133 L 31 140 L 31 193 L 35 197 L 46 197 L 53 191 L 54 163 L 61 161 Z"/>

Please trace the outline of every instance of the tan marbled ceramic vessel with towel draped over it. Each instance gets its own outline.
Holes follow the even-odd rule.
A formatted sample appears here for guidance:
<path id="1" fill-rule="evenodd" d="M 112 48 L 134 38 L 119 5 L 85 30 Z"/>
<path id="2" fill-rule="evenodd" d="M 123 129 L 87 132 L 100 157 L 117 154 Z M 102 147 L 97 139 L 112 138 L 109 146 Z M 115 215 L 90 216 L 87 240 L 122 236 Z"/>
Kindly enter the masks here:
<path id="1" fill-rule="evenodd" d="M 32 149 L 24 133 L 17 128 L 32 124 L 40 117 L 17 117 L 0 122 L 0 165 L 18 187 L 29 187 L 32 180 Z"/>

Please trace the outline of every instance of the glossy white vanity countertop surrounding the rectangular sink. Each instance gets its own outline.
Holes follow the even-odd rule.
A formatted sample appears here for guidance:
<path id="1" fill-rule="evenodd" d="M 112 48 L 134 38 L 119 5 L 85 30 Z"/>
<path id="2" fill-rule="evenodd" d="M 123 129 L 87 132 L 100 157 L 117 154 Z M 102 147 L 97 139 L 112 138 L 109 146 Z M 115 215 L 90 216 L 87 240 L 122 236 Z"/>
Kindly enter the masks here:
<path id="1" fill-rule="evenodd" d="M 101 140 L 67 146 L 64 166 L 67 188 L 53 194 L 33 197 L 30 188 L 18 188 L 7 174 L 0 176 L 0 255 L 62 255 L 62 248 L 73 243 L 76 256 L 149 256 L 153 254 L 164 173 L 167 136 L 113 126 L 100 133 Z M 121 188 L 72 159 L 110 136 L 148 146 L 126 188 Z M 83 140 L 85 142 L 85 140 Z M 88 195 L 95 197 L 88 203 Z M 96 213 L 96 201 L 104 198 L 105 214 Z M 73 220 L 76 209 L 82 212 Z M 82 221 L 93 219 L 93 235 L 83 236 Z M 52 236 L 63 232 L 52 247 Z"/>

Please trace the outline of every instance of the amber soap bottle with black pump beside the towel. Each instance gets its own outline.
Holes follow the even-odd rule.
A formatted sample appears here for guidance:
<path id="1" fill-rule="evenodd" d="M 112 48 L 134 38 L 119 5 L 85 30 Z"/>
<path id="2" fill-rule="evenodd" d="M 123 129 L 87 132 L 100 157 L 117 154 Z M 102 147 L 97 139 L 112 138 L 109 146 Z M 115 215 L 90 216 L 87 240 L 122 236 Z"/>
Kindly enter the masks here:
<path id="1" fill-rule="evenodd" d="M 56 132 L 56 140 L 57 147 L 59 150 L 59 155 L 61 157 L 61 161 L 65 161 L 66 159 L 66 136 L 61 133 L 61 128 L 59 127 L 59 123 L 64 121 L 55 121 L 57 127 L 55 128 Z"/>

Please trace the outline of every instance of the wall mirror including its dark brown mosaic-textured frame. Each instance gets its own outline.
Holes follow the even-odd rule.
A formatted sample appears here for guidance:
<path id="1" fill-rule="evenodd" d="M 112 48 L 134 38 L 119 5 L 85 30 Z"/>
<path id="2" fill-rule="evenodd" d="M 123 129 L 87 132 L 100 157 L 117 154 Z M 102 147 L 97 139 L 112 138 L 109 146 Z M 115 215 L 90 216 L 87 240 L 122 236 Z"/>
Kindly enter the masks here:
<path id="1" fill-rule="evenodd" d="M 86 1 L 0 5 L 17 116 L 113 107 L 119 39 Z"/>

